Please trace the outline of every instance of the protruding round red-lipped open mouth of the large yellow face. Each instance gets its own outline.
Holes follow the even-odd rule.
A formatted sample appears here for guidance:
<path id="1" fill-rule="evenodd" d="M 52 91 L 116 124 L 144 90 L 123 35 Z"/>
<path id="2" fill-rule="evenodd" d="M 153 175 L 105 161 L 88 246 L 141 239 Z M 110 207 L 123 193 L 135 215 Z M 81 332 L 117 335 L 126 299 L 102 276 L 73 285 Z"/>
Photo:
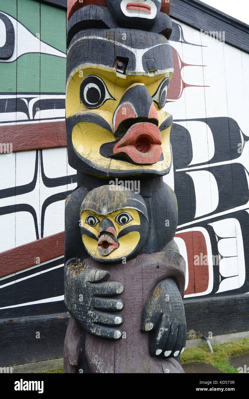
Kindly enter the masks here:
<path id="1" fill-rule="evenodd" d="M 155 164 L 162 154 L 161 132 L 153 123 L 135 123 L 115 144 L 113 153 L 125 153 L 137 164 Z"/>

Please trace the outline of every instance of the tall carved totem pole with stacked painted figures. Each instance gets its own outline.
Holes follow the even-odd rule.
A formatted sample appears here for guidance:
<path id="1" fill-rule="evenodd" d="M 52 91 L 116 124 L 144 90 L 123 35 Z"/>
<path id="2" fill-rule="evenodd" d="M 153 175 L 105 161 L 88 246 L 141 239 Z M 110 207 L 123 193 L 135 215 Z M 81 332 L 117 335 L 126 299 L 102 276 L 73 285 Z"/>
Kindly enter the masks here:
<path id="1" fill-rule="evenodd" d="M 183 373 L 169 0 L 68 0 L 65 373 Z"/>

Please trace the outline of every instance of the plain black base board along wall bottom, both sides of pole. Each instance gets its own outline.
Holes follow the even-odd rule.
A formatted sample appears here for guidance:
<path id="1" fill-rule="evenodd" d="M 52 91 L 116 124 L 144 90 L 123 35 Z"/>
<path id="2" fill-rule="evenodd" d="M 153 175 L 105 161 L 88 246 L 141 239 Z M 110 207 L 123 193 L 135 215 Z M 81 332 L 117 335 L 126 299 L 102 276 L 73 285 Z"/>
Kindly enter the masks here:
<path id="1" fill-rule="evenodd" d="M 183 303 L 187 339 L 249 331 L 249 294 Z M 0 367 L 62 357 L 68 320 L 68 313 L 0 320 Z"/>

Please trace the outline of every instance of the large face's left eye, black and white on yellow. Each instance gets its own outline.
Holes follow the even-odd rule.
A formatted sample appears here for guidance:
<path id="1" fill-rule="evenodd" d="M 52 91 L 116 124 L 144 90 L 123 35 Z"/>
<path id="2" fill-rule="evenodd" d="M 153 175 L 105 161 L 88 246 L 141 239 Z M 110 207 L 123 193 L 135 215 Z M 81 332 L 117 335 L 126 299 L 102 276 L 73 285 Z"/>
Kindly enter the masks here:
<path id="1" fill-rule="evenodd" d="M 107 100 L 115 99 L 100 77 L 89 75 L 83 79 L 80 85 L 80 101 L 86 108 L 101 107 Z"/>

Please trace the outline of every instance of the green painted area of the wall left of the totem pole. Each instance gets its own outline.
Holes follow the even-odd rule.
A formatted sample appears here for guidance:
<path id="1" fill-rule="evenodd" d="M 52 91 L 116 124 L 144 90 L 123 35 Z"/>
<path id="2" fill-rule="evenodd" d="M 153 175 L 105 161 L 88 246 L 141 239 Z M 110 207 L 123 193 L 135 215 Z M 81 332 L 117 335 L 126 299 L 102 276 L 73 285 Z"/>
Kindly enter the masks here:
<path id="1" fill-rule="evenodd" d="M 29 30 L 49 46 L 66 53 L 66 11 L 35 0 L 0 0 L 0 10 L 16 18 L 24 27 L 17 29 L 19 48 L 26 54 L 17 61 L 0 62 L 2 93 L 65 93 L 66 58 L 40 54 L 39 43 L 33 42 Z M 46 47 L 46 46 L 45 46 Z M 46 47 L 46 52 L 56 52 Z M 32 53 L 36 51 L 36 53 Z"/>

